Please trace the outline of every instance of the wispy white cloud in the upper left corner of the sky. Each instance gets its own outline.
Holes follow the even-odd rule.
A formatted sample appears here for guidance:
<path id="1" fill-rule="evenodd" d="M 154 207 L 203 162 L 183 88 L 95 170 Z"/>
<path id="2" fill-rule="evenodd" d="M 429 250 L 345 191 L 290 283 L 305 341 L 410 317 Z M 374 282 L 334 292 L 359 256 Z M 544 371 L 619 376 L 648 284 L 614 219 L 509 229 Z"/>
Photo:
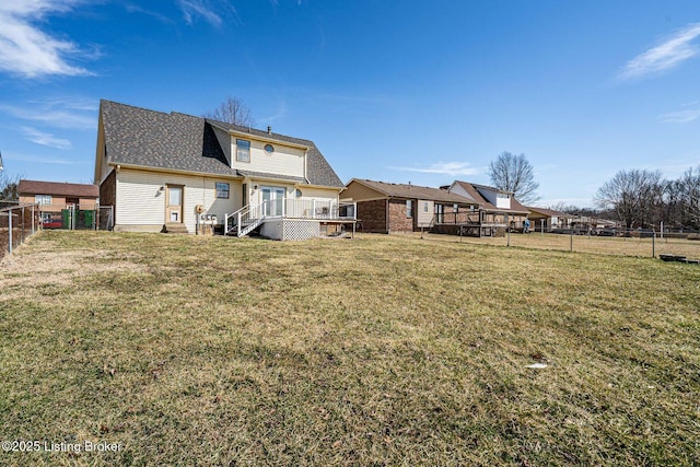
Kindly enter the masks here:
<path id="1" fill-rule="evenodd" d="M 70 11 L 81 0 L 13 0 L 0 2 L 0 70 L 25 78 L 88 75 L 70 57 L 88 57 L 78 45 L 44 33 L 35 23 L 49 13 Z"/>

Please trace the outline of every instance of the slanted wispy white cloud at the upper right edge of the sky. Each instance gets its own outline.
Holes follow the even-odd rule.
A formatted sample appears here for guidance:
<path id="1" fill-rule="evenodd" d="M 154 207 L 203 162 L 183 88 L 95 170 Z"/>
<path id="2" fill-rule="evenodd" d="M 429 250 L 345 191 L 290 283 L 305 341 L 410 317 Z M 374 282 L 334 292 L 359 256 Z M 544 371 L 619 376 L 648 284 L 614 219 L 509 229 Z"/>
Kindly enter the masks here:
<path id="1" fill-rule="evenodd" d="M 662 44 L 628 61 L 620 72 L 620 78 L 639 78 L 680 65 L 698 54 L 698 47 L 691 44 L 698 36 L 700 36 L 700 23 L 689 24 Z"/>

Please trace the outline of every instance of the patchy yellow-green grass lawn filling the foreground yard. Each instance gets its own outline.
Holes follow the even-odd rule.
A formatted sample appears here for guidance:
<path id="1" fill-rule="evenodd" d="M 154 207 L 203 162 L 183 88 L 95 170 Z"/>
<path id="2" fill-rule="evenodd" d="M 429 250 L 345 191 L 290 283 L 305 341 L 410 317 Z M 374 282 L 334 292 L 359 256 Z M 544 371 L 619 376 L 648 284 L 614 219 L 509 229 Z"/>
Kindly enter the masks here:
<path id="1" fill-rule="evenodd" d="M 43 232 L 0 266 L 0 436 L 120 448 L 0 464 L 699 465 L 699 307 L 651 257 Z"/>

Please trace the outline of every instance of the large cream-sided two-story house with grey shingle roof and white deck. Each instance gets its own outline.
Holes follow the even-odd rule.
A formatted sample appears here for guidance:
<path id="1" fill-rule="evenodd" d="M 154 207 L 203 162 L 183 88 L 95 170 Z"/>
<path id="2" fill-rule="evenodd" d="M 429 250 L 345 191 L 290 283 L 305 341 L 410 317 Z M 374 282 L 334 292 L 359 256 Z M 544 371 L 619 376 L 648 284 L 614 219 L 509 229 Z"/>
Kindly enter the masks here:
<path id="1" fill-rule="evenodd" d="M 109 101 L 100 105 L 95 182 L 115 207 L 115 231 L 213 225 L 294 240 L 353 220 L 313 141 Z"/>

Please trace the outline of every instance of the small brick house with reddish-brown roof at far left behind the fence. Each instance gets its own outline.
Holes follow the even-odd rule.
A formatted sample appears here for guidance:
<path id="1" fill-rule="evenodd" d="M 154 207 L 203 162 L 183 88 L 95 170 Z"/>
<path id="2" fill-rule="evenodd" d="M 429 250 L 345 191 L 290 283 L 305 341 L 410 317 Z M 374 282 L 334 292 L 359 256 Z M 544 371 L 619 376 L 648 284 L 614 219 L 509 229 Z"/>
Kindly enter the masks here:
<path id="1" fill-rule="evenodd" d="M 73 207 L 80 210 L 95 209 L 100 199 L 97 185 L 60 182 L 20 180 L 20 202 L 42 205 L 43 212 L 60 212 Z"/>

